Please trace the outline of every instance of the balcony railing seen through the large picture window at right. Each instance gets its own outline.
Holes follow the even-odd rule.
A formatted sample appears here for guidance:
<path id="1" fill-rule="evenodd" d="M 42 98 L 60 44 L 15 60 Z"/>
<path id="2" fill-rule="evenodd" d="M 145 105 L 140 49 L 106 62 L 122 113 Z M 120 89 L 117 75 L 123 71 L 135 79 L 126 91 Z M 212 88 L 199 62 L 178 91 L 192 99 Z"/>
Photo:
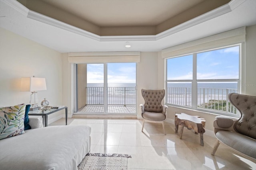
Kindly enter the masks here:
<path id="1" fill-rule="evenodd" d="M 223 111 L 236 114 L 236 108 L 228 101 L 228 94 L 237 92 L 236 89 L 198 88 L 197 108 Z M 192 106 L 192 88 L 167 88 L 167 103 Z"/>

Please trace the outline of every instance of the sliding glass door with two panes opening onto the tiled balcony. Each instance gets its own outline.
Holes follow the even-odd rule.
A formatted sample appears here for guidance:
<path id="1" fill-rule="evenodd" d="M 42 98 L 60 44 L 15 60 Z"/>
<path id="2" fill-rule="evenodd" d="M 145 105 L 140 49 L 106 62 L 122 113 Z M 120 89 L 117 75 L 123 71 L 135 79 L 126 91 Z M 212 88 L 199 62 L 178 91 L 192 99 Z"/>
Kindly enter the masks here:
<path id="1" fill-rule="evenodd" d="M 85 114 L 136 114 L 136 63 L 77 64 L 77 107 Z"/>

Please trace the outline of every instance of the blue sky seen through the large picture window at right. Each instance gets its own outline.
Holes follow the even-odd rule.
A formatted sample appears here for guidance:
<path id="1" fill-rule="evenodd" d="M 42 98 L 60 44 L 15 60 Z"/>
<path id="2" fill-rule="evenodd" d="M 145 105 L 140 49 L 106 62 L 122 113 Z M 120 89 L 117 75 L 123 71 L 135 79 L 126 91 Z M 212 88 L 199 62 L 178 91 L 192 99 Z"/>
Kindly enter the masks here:
<path id="1" fill-rule="evenodd" d="M 192 80 L 193 56 L 168 59 L 168 80 Z M 239 46 L 197 54 L 197 79 L 237 79 Z"/>

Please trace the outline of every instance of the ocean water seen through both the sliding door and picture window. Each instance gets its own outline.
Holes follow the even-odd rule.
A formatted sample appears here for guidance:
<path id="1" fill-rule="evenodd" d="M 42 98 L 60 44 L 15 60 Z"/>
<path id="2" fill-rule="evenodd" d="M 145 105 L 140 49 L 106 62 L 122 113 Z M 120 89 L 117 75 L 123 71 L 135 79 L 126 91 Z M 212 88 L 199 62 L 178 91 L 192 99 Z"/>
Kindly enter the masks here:
<path id="1" fill-rule="evenodd" d="M 103 104 L 104 84 L 88 83 L 88 104 Z M 136 104 L 135 83 L 108 84 L 108 104 Z M 236 92 L 237 83 L 198 83 L 198 103 L 209 100 L 226 100 L 227 93 Z M 140 92 L 138 92 L 140 94 Z M 192 88 L 191 83 L 168 83 L 166 90 L 167 103 L 191 106 Z"/>

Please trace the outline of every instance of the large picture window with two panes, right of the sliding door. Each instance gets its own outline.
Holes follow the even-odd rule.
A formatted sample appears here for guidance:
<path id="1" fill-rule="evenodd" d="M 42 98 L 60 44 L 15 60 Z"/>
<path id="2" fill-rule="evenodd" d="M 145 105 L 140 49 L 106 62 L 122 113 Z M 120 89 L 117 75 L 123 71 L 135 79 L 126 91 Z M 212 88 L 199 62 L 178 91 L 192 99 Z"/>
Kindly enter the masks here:
<path id="1" fill-rule="evenodd" d="M 236 115 L 228 94 L 240 92 L 240 45 L 166 59 L 166 103 Z"/>

